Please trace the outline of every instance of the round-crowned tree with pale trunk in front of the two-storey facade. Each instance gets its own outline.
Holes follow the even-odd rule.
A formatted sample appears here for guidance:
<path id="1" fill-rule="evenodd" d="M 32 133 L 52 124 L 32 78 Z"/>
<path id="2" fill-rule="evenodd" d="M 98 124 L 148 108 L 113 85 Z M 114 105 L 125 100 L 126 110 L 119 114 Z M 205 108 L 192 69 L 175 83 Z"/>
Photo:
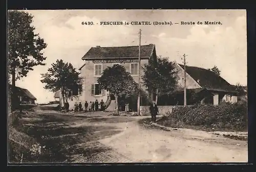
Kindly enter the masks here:
<path id="1" fill-rule="evenodd" d="M 118 110 L 118 97 L 130 97 L 138 93 L 138 84 L 134 81 L 130 72 L 127 72 L 124 66 L 114 64 L 103 70 L 102 75 L 98 78 L 99 88 L 110 91 L 115 96 L 116 114 Z"/>

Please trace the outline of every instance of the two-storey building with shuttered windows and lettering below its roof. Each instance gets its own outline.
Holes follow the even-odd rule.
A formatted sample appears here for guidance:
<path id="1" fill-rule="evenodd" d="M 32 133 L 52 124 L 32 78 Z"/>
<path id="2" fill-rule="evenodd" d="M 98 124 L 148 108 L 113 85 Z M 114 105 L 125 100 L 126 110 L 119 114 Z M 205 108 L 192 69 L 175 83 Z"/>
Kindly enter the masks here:
<path id="1" fill-rule="evenodd" d="M 142 67 L 148 63 L 150 58 L 156 59 L 156 47 L 154 44 L 141 45 L 141 76 L 143 76 Z M 91 47 L 90 50 L 82 57 L 83 65 L 79 68 L 81 71 L 82 91 L 74 90 L 69 99 L 70 108 L 74 108 L 75 103 L 85 101 L 103 100 L 107 106 L 113 107 L 113 95 L 106 90 L 100 90 L 97 79 L 101 76 L 102 71 L 114 64 L 123 65 L 126 71 L 131 72 L 131 76 L 138 82 L 138 61 L 139 46 L 119 46 L 119 47 Z M 145 89 L 142 86 L 142 89 Z M 61 95 L 55 94 L 55 98 Z"/>

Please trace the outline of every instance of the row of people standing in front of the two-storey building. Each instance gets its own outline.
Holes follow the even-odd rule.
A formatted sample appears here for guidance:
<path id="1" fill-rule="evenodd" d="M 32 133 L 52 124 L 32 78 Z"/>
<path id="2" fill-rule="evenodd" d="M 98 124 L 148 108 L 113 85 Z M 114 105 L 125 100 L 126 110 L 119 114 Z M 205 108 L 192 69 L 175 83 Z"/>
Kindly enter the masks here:
<path id="1" fill-rule="evenodd" d="M 90 101 L 89 103 L 86 101 L 86 103 L 84 103 L 84 111 L 86 112 L 92 112 L 92 111 L 103 111 L 105 110 L 105 106 L 104 106 L 104 102 L 103 100 L 101 100 L 100 102 L 98 102 L 98 100 L 96 100 L 95 102 Z M 66 101 L 65 103 L 65 110 L 69 111 L 69 103 L 68 101 Z M 75 112 L 77 111 L 83 111 L 82 108 L 82 104 L 81 102 L 79 102 L 79 104 L 75 103 Z"/>

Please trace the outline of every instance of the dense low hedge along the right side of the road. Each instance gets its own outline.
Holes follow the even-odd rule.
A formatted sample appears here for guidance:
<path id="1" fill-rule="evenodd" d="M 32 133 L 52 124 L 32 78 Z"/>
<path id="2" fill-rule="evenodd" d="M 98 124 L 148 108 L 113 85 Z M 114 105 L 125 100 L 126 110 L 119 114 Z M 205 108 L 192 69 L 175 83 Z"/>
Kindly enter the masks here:
<path id="1" fill-rule="evenodd" d="M 174 108 L 172 113 L 167 113 L 167 120 L 163 121 L 163 125 L 184 124 L 219 130 L 246 131 L 247 119 L 247 104 L 197 104 Z"/>

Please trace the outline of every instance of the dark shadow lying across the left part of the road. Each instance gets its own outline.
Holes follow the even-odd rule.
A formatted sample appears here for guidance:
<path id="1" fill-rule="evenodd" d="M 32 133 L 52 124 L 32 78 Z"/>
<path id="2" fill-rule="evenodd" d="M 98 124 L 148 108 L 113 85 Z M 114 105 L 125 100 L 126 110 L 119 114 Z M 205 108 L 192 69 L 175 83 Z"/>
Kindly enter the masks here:
<path id="1" fill-rule="evenodd" d="M 120 132 L 114 127 L 93 126 L 93 124 L 70 126 L 81 122 L 84 117 L 56 114 L 39 114 L 38 117 L 41 120 L 24 121 L 18 130 L 35 138 L 41 146 L 46 146 L 38 159 L 39 162 L 72 162 L 76 155 L 79 155 L 81 162 L 94 162 L 92 155 L 110 150 L 99 144 L 97 140 Z"/>

